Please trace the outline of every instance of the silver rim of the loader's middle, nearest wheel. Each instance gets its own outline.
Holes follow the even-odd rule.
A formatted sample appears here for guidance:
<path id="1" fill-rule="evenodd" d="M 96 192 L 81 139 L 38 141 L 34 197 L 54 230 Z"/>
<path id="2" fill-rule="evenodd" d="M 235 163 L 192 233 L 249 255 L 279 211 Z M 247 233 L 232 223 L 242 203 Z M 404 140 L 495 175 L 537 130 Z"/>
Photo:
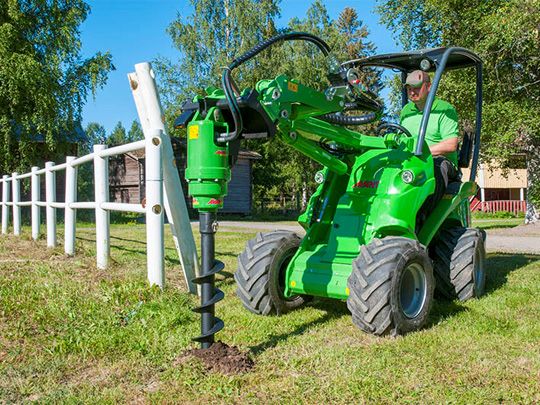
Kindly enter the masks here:
<path id="1" fill-rule="evenodd" d="M 426 302 L 426 274 L 419 263 L 409 264 L 401 277 L 399 300 L 403 314 L 415 318 Z"/>

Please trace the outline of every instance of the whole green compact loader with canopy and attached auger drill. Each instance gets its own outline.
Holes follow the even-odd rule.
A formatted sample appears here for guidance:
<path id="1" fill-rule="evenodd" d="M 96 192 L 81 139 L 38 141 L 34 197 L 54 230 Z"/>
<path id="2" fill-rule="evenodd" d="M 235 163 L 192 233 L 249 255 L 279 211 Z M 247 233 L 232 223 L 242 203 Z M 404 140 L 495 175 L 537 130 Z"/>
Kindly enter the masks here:
<path id="1" fill-rule="evenodd" d="M 232 71 L 276 42 L 304 40 L 328 59 L 329 87 L 317 91 L 294 78 L 261 80 L 238 90 Z M 465 133 L 459 166 L 470 178 L 450 183 L 433 201 L 433 157 L 425 142 L 431 106 L 448 69 L 476 70 L 476 128 Z M 361 81 L 363 71 L 388 68 L 434 72 L 418 134 L 382 123 L 376 134 L 350 129 L 379 120 L 382 106 Z M 425 325 L 434 290 L 466 300 L 484 291 L 485 235 L 470 228 L 469 199 L 480 145 L 482 62 L 463 48 L 437 48 L 339 63 L 328 45 L 307 33 L 278 35 L 224 69 L 222 89 L 183 105 L 176 125 L 187 128 L 186 180 L 201 229 L 202 334 L 209 347 L 223 322 L 214 304 L 223 293 L 214 275 L 216 212 L 227 194 L 242 139 L 277 137 L 323 168 L 307 209 L 298 219 L 305 236 L 259 233 L 238 258 L 234 277 L 243 305 L 259 315 L 282 314 L 313 296 L 346 300 L 355 325 L 376 335 L 396 335 Z M 403 95 L 403 103 L 406 95 Z"/>

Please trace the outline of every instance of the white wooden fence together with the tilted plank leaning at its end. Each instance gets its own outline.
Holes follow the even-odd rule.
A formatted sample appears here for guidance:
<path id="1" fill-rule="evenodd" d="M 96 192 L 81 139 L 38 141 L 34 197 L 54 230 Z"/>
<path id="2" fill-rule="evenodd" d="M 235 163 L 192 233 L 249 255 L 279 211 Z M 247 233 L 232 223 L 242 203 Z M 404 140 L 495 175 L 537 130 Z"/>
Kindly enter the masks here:
<path id="1" fill-rule="evenodd" d="M 32 238 L 40 235 L 40 208 L 46 208 L 47 246 L 55 247 L 56 210 L 65 210 L 64 249 L 75 254 L 75 223 L 78 209 L 93 209 L 96 213 L 96 261 L 100 269 L 107 267 L 110 254 L 109 212 L 125 211 L 146 214 L 146 248 L 148 280 L 163 288 L 163 215 L 167 214 L 174 244 L 178 252 L 189 292 L 198 293 L 193 278 L 199 275 L 199 259 L 189 221 L 176 159 L 171 140 L 167 135 L 165 119 L 152 66 L 148 62 L 135 65 L 135 72 L 128 74 L 129 85 L 137 107 L 145 140 L 107 149 L 95 145 L 94 152 L 82 157 L 67 156 L 66 162 L 55 165 L 45 163 L 45 168 L 33 167 L 30 173 L 13 173 L 0 180 L 2 184 L 2 233 L 9 224 L 9 207 L 13 212 L 13 233 L 21 233 L 21 207 L 31 207 Z M 108 159 L 135 150 L 145 149 L 146 208 L 139 204 L 120 204 L 109 201 Z M 77 201 L 77 167 L 94 162 L 95 201 Z M 56 172 L 66 171 L 65 201 L 56 201 Z M 40 177 L 45 175 L 45 201 L 40 198 Z M 31 179 L 31 200 L 21 201 L 21 181 Z M 10 187 L 11 186 L 11 187 Z M 10 199 L 10 193 L 12 198 Z"/>

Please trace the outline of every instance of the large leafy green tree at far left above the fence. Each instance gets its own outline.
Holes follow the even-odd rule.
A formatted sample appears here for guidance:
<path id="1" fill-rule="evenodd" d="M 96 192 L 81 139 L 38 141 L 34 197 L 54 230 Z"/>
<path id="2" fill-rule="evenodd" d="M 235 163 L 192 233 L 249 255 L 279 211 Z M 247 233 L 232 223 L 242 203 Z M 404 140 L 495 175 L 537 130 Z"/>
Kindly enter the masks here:
<path id="1" fill-rule="evenodd" d="M 83 59 L 82 0 L 3 0 L 0 5 L 0 169 L 27 171 L 65 154 L 90 92 L 113 68 L 109 53 Z M 43 137 L 45 150 L 36 143 Z"/>

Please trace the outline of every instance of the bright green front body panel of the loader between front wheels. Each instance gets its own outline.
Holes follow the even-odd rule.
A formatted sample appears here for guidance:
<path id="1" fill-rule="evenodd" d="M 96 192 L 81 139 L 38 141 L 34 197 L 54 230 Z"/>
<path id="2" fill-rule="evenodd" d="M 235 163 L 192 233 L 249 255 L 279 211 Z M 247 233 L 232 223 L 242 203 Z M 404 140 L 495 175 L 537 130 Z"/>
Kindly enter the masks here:
<path id="1" fill-rule="evenodd" d="M 299 218 L 306 236 L 287 268 L 286 296 L 346 299 L 352 261 L 362 245 L 389 235 L 416 239 L 417 213 L 435 180 L 433 158 L 427 150 L 414 156 L 409 139 L 393 149 L 367 150 L 356 157 L 350 174 L 326 171 Z M 405 177 L 409 182 L 404 173 L 412 175 Z"/>

